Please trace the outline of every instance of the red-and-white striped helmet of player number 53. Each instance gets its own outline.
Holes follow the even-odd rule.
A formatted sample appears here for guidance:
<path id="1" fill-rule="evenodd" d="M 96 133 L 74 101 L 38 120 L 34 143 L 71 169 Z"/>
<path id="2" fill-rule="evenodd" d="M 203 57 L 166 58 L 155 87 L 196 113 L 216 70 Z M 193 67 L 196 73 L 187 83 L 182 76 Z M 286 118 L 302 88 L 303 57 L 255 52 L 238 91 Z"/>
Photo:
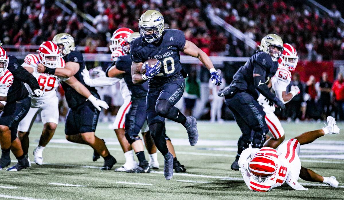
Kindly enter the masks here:
<path id="1" fill-rule="evenodd" d="M 287 67 L 290 71 L 294 71 L 298 64 L 299 56 L 296 49 L 291 44 L 283 44 L 283 52 L 281 57 L 278 59 L 278 63 Z"/>

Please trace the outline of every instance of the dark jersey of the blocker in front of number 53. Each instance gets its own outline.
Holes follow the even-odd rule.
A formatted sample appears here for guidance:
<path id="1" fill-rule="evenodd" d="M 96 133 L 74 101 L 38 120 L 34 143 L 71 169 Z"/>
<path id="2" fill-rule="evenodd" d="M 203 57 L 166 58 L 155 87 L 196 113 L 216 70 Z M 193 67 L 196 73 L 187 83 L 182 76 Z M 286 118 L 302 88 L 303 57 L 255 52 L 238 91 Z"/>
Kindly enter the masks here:
<path id="1" fill-rule="evenodd" d="M 267 81 L 276 74 L 277 68 L 277 61 L 272 61 L 269 54 L 258 51 L 234 74 L 230 87 L 246 91 L 257 99 L 259 94 L 254 85 L 253 74 L 259 74 Z"/>

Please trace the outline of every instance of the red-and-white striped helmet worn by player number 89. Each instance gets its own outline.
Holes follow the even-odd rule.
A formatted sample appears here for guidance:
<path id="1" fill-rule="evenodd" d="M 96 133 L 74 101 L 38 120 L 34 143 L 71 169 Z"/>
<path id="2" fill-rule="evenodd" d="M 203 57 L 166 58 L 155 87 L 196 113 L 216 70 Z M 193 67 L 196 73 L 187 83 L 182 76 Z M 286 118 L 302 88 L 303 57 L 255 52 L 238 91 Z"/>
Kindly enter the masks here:
<path id="1" fill-rule="evenodd" d="M 45 66 L 49 68 L 56 68 L 58 60 L 60 59 L 60 51 L 58 46 L 52 41 L 43 42 L 40 48 L 37 50 L 39 53 L 39 60 Z"/>

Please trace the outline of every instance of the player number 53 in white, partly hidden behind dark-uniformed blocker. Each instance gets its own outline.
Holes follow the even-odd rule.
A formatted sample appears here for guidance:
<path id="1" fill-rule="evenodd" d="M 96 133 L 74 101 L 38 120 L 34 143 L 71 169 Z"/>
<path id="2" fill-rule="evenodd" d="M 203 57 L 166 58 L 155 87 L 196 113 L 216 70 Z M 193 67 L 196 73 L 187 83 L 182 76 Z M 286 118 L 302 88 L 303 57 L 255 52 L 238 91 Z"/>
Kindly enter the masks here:
<path id="1" fill-rule="evenodd" d="M 300 93 L 298 86 L 291 86 L 290 92 L 286 92 L 287 86 L 291 81 L 290 71 L 295 70 L 298 60 L 299 56 L 296 49 L 288 43 L 283 44 L 283 52 L 278 59 L 278 69 L 275 76 L 271 78 L 271 84 L 276 97 L 284 104 L 288 103 L 293 97 Z M 275 113 L 273 113 L 276 107 L 262 94 L 259 95 L 258 102 L 263 107 L 265 122 L 272 136 L 267 139 L 264 146 L 277 148 L 284 141 L 284 129 Z"/>

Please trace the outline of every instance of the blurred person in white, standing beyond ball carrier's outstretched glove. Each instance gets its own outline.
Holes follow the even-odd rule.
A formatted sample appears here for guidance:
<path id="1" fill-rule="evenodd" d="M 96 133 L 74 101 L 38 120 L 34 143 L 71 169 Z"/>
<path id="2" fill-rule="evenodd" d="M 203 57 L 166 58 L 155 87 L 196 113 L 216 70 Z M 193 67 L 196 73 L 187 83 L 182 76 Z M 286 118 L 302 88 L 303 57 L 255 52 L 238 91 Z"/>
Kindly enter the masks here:
<path id="1" fill-rule="evenodd" d="M 221 70 L 217 69 L 217 72 L 221 74 Z M 215 117 L 217 118 L 217 122 L 223 123 L 222 116 L 222 105 L 225 97 L 219 97 L 217 95 L 218 91 L 226 87 L 226 81 L 223 79 L 223 82 L 220 86 L 215 85 L 212 83 L 212 79 L 209 79 L 209 100 L 211 101 L 211 109 L 210 109 L 210 121 L 215 122 Z"/>

